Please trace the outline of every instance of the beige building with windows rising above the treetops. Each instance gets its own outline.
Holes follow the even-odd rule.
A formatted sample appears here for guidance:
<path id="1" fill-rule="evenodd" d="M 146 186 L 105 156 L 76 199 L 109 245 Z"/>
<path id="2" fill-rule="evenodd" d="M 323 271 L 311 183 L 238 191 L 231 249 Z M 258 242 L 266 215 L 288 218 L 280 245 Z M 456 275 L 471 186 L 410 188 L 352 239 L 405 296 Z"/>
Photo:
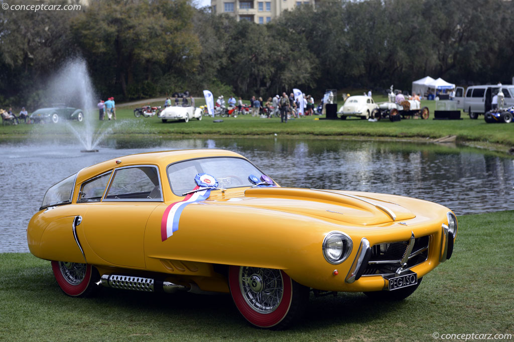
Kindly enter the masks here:
<path id="1" fill-rule="evenodd" d="M 256 24 L 266 24 L 285 10 L 297 6 L 315 6 L 316 0 L 211 0 L 212 12 L 227 13 L 237 21 L 248 20 Z"/>

